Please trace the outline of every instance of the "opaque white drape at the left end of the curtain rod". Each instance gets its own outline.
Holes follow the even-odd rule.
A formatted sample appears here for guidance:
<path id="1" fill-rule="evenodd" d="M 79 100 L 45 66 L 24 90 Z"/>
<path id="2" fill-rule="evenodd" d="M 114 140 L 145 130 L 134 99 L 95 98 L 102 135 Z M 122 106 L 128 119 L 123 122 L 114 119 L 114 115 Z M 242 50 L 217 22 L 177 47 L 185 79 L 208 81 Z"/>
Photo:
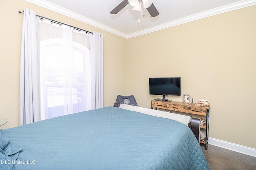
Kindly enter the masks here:
<path id="1" fill-rule="evenodd" d="M 36 13 L 24 9 L 20 56 L 20 125 L 40 120 Z"/>

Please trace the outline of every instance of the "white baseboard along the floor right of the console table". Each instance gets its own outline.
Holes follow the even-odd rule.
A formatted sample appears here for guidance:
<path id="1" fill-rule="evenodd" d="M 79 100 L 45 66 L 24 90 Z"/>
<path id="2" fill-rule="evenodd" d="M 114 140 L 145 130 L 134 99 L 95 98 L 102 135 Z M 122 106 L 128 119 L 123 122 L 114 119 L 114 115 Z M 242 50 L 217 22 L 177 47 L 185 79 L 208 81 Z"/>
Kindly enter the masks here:
<path id="1" fill-rule="evenodd" d="M 209 137 L 208 143 L 210 145 L 214 145 L 216 147 L 221 147 L 221 148 L 224 148 L 224 149 L 233 150 L 235 152 L 239 152 L 239 153 L 242 153 L 242 154 L 247 154 L 247 155 L 256 157 L 256 149 L 254 149 L 254 148 L 245 147 L 245 146 L 242 146 L 242 145 L 222 141 L 222 140 L 219 140 L 219 139 L 214 139 L 214 138 L 211 138 L 211 137 Z"/>

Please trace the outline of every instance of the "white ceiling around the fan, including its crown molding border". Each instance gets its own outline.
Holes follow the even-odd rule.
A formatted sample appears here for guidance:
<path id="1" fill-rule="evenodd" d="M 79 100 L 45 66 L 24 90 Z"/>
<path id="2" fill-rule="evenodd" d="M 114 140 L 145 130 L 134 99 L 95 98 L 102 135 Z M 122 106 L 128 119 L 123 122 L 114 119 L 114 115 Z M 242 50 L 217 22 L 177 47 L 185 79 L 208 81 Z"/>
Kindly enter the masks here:
<path id="1" fill-rule="evenodd" d="M 256 5 L 256 0 L 153 0 L 153 4 L 160 14 L 152 18 L 148 11 L 144 10 L 145 20 L 138 23 L 139 12 L 132 10 L 130 4 L 125 6 L 118 14 L 110 14 L 110 11 L 123 0 L 25 1 L 125 38 L 136 37 L 189 21 Z M 78 27 L 78 25 L 73 26 Z"/>

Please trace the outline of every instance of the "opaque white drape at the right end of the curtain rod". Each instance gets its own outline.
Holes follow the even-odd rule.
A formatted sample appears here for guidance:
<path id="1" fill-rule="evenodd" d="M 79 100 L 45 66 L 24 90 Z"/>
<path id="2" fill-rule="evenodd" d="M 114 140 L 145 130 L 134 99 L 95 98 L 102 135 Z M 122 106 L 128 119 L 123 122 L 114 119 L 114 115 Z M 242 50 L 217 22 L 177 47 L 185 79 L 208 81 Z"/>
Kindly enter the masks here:
<path id="1" fill-rule="evenodd" d="M 103 35 L 90 34 L 90 59 L 92 65 L 92 109 L 103 107 Z"/>

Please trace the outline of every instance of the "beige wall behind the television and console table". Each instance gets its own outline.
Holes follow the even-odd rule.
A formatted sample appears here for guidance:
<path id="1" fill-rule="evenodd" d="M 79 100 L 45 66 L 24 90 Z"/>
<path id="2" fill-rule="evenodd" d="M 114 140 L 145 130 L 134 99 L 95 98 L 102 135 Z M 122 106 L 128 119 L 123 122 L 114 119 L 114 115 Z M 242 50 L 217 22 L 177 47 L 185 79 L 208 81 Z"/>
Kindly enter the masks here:
<path id="1" fill-rule="evenodd" d="M 149 77 L 181 77 L 181 93 L 210 100 L 212 138 L 256 148 L 256 6 L 128 39 L 127 94 L 151 107 Z M 182 101 L 182 96 L 168 96 Z"/>

